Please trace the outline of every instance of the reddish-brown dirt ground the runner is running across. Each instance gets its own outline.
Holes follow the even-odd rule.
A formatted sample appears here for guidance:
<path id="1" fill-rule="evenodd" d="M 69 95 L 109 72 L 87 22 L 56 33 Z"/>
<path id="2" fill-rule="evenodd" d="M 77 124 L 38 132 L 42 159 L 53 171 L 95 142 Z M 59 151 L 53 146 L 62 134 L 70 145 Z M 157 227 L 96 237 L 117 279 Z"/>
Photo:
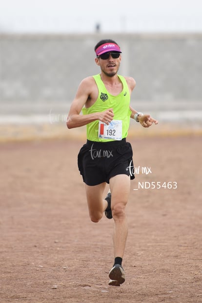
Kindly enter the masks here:
<path id="1" fill-rule="evenodd" d="M 0 144 L 0 303 L 202 302 L 202 136 L 129 141 L 121 287 L 108 286 L 113 219 L 88 217 L 84 141 Z"/>

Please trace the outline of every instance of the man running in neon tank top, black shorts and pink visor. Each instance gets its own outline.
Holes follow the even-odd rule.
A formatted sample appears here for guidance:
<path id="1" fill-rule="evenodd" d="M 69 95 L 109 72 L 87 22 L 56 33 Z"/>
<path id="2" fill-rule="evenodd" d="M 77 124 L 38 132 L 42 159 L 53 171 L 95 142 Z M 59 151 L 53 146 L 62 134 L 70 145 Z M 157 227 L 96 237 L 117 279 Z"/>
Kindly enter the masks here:
<path id="1" fill-rule="evenodd" d="M 126 141 L 130 118 L 149 127 L 158 121 L 130 106 L 136 81 L 118 75 L 121 49 L 114 40 L 101 40 L 95 46 L 95 63 L 101 73 L 83 79 L 71 104 L 67 127 L 86 125 L 87 141 L 78 155 L 78 166 L 85 182 L 86 198 L 92 222 L 99 222 L 103 212 L 114 220 L 114 265 L 109 285 L 125 281 L 122 258 L 128 233 L 125 206 L 130 192 L 133 165 L 131 144 Z M 82 111 L 82 115 L 81 115 Z M 110 191 L 103 199 L 109 183 Z"/>

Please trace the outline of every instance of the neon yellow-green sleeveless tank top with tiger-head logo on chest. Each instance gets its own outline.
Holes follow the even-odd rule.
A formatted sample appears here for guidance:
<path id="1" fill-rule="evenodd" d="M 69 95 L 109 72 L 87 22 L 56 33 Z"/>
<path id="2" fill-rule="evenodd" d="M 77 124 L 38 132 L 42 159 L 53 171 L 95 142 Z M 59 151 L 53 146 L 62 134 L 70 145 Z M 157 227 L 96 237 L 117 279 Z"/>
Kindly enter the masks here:
<path id="1" fill-rule="evenodd" d="M 118 77 L 122 82 L 123 89 L 119 95 L 113 96 L 106 90 L 106 87 L 101 80 L 101 75 L 98 74 L 93 76 L 99 90 L 98 99 L 91 107 L 89 108 L 83 107 L 82 113 L 83 115 L 87 115 L 97 112 L 103 112 L 108 108 L 113 108 L 113 112 L 114 112 L 113 119 L 122 121 L 122 139 L 123 139 L 127 137 L 128 128 L 130 124 L 130 115 L 131 115 L 131 110 L 129 108 L 130 93 L 125 78 L 121 75 L 118 75 Z M 97 141 L 97 142 L 114 141 L 113 139 L 99 138 L 98 128 L 99 128 L 99 120 L 90 122 L 86 125 L 88 140 Z"/>

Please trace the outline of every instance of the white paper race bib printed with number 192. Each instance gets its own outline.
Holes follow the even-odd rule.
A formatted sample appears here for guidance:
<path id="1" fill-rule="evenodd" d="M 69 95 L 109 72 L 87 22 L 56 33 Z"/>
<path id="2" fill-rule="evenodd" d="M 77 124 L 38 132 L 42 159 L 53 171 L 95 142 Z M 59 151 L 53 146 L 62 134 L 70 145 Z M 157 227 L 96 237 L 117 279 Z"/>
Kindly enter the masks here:
<path id="1" fill-rule="evenodd" d="M 109 124 L 99 121 L 98 138 L 122 140 L 122 121 L 112 120 Z"/>

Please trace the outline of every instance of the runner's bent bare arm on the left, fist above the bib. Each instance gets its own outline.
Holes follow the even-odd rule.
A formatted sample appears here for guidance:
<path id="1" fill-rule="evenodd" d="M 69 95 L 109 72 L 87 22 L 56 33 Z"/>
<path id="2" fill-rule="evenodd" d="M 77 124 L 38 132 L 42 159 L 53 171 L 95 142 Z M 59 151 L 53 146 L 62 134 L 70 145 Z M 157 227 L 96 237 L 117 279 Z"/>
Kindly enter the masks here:
<path id="1" fill-rule="evenodd" d="M 103 112 L 88 115 L 80 114 L 86 101 L 91 98 L 93 85 L 95 85 L 95 82 L 92 77 L 85 78 L 81 81 L 67 117 L 66 125 L 68 128 L 81 127 L 96 120 L 100 120 L 108 124 L 113 120 L 114 114 L 112 108 L 109 108 Z"/>

